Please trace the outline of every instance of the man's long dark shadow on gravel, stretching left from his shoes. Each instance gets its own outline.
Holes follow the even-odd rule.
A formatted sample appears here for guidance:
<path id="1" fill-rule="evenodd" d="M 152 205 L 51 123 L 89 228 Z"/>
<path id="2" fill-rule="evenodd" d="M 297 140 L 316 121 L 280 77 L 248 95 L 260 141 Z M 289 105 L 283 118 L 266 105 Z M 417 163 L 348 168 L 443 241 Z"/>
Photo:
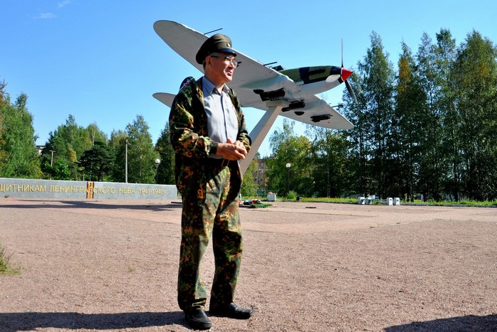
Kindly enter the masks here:
<path id="1" fill-rule="evenodd" d="M 78 314 L 76 312 L 0 313 L 0 331 L 35 331 L 38 328 L 118 330 L 166 325 L 185 326 L 182 311 L 121 314 Z"/>

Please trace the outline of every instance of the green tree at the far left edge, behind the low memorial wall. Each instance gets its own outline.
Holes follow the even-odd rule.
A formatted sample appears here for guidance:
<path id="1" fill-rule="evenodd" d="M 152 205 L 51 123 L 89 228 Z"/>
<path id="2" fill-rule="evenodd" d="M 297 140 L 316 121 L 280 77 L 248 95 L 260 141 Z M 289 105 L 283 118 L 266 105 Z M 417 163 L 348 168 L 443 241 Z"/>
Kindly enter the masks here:
<path id="1" fill-rule="evenodd" d="M 3 87 L 2 87 L 3 85 Z M 5 87 L 0 85 L 0 90 Z M 39 178 L 40 159 L 33 129 L 33 117 L 26 109 L 28 96 L 19 95 L 14 105 L 9 104 L 5 92 L 0 103 L 0 177 Z"/>

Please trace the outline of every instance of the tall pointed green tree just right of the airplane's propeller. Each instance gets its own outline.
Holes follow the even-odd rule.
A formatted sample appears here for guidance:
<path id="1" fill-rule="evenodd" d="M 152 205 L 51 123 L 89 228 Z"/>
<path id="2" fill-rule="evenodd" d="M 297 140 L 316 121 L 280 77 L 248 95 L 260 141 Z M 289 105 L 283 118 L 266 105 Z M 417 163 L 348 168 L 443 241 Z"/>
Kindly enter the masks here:
<path id="1" fill-rule="evenodd" d="M 358 179 L 356 192 L 385 196 L 391 176 L 387 146 L 393 137 L 395 75 L 377 33 L 371 33 L 371 47 L 351 81 L 354 90 L 359 91 L 358 105 L 346 104 L 347 117 L 355 126 L 349 131 L 349 139 Z"/>

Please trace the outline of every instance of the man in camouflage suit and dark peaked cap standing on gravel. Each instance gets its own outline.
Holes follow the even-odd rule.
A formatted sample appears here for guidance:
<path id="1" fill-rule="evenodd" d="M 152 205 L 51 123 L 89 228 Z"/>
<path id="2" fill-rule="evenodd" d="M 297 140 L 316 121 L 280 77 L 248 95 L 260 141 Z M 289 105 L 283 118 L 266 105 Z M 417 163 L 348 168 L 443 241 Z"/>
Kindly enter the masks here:
<path id="1" fill-rule="evenodd" d="M 200 261 L 211 237 L 216 268 L 209 314 L 239 319 L 252 315 L 251 309 L 234 304 L 243 247 L 238 161 L 250 149 L 240 102 L 226 86 L 238 65 L 235 56 L 227 36 L 209 38 L 196 56 L 205 75 L 182 83 L 169 117 L 176 185 L 183 204 L 178 304 L 197 329 L 212 326 L 204 312 L 207 292 L 200 279 Z"/>

